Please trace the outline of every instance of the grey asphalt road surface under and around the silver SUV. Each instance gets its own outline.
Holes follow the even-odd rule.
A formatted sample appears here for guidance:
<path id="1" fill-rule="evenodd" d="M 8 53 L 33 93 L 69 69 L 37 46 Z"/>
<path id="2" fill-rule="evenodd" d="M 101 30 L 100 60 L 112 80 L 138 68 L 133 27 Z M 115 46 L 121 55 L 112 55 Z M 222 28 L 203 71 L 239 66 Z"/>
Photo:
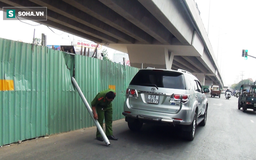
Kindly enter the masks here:
<path id="1" fill-rule="evenodd" d="M 256 112 L 238 110 L 234 96 L 208 101 L 206 126 L 196 128 L 191 142 L 170 126 L 144 124 L 131 132 L 122 119 L 113 122 L 119 140 L 109 147 L 91 127 L 4 146 L 0 160 L 256 160 Z"/>

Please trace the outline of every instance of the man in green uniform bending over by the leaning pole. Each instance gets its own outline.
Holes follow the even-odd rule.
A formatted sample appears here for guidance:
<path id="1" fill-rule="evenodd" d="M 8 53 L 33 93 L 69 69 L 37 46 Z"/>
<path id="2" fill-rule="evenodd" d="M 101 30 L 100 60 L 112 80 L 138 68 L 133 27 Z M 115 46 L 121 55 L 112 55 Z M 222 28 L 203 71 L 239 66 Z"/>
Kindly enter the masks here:
<path id="1" fill-rule="evenodd" d="M 106 136 L 110 140 L 118 140 L 118 138 L 115 138 L 113 136 L 112 131 L 112 101 L 115 97 L 116 91 L 112 89 L 107 89 L 98 93 L 91 102 L 94 119 L 98 120 L 102 128 L 103 120 L 105 118 Z M 99 141 L 104 141 L 98 128 L 96 132 L 96 139 Z"/>

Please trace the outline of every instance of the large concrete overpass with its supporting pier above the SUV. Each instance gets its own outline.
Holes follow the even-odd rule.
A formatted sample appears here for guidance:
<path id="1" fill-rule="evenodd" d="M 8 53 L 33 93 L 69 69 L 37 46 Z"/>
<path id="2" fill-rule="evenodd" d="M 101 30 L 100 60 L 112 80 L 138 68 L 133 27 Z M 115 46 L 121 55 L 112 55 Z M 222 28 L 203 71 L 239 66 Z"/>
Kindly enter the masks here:
<path id="1" fill-rule="evenodd" d="M 193 0 L 0 0 L 3 6 L 46 6 L 40 24 L 129 54 L 131 66 L 184 69 L 202 85 L 223 85 Z"/>

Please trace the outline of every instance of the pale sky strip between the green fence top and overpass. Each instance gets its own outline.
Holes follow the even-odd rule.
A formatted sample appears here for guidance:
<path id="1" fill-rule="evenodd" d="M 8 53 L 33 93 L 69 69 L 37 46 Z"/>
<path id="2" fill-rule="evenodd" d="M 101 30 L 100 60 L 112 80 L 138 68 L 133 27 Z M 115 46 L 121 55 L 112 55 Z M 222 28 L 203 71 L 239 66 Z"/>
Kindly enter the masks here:
<path id="1" fill-rule="evenodd" d="M 0 11 L 0 38 L 32 43 L 35 30 L 35 38 L 41 39 L 42 33 L 47 36 L 47 45 L 71 45 L 71 42 L 74 44 L 76 40 L 86 40 L 52 27 L 48 28 L 45 25 L 40 25 L 30 20 L 22 20 L 22 22 L 20 22 L 18 20 L 3 20 L 2 17 L 3 12 Z M 94 43 L 90 40 L 86 41 Z M 114 53 L 122 53 L 106 46 L 102 46 L 101 50 L 103 49 L 107 49 L 110 60 L 113 59 Z M 93 51 L 93 49 L 91 51 Z"/>

